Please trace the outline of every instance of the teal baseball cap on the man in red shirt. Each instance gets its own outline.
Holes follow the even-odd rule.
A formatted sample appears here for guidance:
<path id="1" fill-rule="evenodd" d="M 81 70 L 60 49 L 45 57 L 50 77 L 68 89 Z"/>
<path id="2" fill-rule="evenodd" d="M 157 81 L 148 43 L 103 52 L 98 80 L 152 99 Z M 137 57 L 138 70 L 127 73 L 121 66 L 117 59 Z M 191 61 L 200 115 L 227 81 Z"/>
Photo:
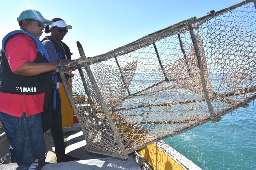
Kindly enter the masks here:
<path id="1" fill-rule="evenodd" d="M 20 15 L 17 17 L 17 21 L 20 22 L 21 20 L 25 20 L 25 19 L 29 19 L 29 18 L 34 18 L 38 21 L 41 21 L 47 25 L 50 25 L 52 24 L 52 21 L 51 20 L 47 20 L 45 19 L 42 14 L 35 10 L 35 9 L 26 9 L 26 10 L 23 10 Z"/>

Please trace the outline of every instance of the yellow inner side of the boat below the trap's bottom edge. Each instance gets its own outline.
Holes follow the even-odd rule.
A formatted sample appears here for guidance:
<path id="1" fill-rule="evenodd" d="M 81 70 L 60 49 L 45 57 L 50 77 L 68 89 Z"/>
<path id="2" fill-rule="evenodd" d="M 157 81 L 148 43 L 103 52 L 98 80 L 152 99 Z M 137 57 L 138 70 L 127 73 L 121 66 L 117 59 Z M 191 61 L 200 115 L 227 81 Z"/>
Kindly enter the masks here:
<path id="1" fill-rule="evenodd" d="M 185 170 L 155 144 L 148 145 L 138 150 L 138 152 L 149 162 L 154 170 Z"/>

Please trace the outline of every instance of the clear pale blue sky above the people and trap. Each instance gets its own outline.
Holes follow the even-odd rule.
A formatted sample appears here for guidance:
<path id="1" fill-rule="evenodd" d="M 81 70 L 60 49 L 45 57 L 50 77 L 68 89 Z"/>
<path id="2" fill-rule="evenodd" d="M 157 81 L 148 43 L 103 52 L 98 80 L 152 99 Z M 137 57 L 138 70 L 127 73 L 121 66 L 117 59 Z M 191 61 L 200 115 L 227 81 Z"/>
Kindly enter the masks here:
<path id="1" fill-rule="evenodd" d="M 104 54 L 147 34 L 208 11 L 227 8 L 241 0 L 0 0 L 0 39 L 19 29 L 17 16 L 36 9 L 44 18 L 59 17 L 73 26 L 63 39 L 79 57 L 76 42 L 86 57 Z M 42 37 L 49 34 L 43 33 Z"/>

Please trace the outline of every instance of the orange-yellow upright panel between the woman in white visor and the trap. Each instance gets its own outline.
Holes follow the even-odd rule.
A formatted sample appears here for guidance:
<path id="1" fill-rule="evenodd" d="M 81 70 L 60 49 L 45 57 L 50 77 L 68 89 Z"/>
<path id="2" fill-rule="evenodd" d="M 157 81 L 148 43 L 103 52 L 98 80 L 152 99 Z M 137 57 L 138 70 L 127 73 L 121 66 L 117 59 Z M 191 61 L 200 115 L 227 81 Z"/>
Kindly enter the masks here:
<path id="1" fill-rule="evenodd" d="M 59 83 L 59 94 L 61 95 L 62 127 L 73 126 L 73 109 L 63 83 Z"/>

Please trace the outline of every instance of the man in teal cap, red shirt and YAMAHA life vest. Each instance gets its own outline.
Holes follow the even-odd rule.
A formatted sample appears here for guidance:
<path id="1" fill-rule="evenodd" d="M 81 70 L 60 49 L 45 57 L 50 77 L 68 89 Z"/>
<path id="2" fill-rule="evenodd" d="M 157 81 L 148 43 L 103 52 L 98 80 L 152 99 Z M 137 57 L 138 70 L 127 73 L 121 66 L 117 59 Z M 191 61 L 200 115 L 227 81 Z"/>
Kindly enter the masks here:
<path id="1" fill-rule="evenodd" d="M 10 143 L 11 163 L 45 160 L 41 112 L 55 87 L 50 79 L 56 63 L 38 39 L 52 21 L 34 9 L 17 17 L 20 30 L 2 40 L 0 58 L 0 121 Z"/>

